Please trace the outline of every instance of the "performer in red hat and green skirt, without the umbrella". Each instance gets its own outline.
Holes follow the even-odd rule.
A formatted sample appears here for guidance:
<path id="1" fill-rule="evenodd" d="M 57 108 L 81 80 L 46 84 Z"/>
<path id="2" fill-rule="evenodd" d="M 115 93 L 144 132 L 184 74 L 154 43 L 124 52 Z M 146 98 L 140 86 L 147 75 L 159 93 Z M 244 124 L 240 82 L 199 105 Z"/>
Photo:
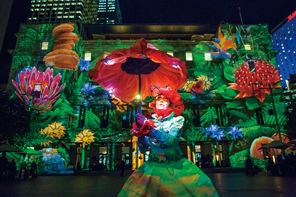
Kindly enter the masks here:
<path id="1" fill-rule="evenodd" d="M 132 130 L 140 152 L 149 150 L 149 159 L 128 178 L 118 197 L 219 197 L 210 178 L 181 152 L 184 104 L 179 93 L 159 89 L 149 106 L 156 112 L 152 120 L 137 114 Z"/>

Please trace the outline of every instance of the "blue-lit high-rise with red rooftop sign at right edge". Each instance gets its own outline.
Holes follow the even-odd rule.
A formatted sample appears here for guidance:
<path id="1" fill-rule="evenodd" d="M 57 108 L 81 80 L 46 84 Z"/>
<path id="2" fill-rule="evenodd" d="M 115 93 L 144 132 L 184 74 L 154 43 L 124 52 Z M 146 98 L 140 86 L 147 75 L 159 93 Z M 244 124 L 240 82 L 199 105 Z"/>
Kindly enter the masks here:
<path id="1" fill-rule="evenodd" d="M 278 50 L 275 60 L 283 88 L 288 88 L 289 80 L 296 75 L 296 11 L 288 16 L 281 24 L 272 30 L 272 46 Z M 293 82 L 292 82 L 293 81 Z M 295 79 L 291 81 L 291 88 L 295 88 Z M 288 84 L 287 84 L 288 82 Z"/>

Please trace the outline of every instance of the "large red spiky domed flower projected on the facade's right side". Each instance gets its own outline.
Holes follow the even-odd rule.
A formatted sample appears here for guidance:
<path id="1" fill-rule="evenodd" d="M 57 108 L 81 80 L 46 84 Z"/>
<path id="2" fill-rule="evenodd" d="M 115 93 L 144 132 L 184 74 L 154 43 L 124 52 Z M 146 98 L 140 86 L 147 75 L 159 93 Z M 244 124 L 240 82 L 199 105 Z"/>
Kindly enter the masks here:
<path id="1" fill-rule="evenodd" d="M 255 71 L 250 71 L 250 61 L 246 61 L 236 67 L 234 72 L 234 83 L 229 83 L 231 89 L 237 90 L 240 93 L 234 98 L 248 98 L 255 95 L 260 102 L 265 99 L 265 94 L 270 94 L 268 84 L 274 90 L 281 88 L 277 83 L 280 81 L 276 66 L 270 61 L 255 59 L 251 60 L 255 65 Z"/>

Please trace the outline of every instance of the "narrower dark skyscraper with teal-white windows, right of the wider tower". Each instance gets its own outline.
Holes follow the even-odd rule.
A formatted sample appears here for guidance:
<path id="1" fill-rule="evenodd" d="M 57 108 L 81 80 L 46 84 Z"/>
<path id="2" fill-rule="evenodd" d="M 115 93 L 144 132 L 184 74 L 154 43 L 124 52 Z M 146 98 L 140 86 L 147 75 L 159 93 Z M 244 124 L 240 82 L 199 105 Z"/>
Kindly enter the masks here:
<path id="1" fill-rule="evenodd" d="M 98 24 L 121 24 L 118 0 L 98 0 Z"/>

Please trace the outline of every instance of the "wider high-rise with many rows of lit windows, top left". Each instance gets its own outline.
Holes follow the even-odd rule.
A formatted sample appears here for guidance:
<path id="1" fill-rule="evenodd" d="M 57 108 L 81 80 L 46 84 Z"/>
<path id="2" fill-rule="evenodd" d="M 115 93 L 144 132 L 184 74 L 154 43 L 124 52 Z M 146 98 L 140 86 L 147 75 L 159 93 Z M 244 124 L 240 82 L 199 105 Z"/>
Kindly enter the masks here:
<path id="1" fill-rule="evenodd" d="M 96 23 L 97 0 L 31 0 L 31 23 Z"/>

